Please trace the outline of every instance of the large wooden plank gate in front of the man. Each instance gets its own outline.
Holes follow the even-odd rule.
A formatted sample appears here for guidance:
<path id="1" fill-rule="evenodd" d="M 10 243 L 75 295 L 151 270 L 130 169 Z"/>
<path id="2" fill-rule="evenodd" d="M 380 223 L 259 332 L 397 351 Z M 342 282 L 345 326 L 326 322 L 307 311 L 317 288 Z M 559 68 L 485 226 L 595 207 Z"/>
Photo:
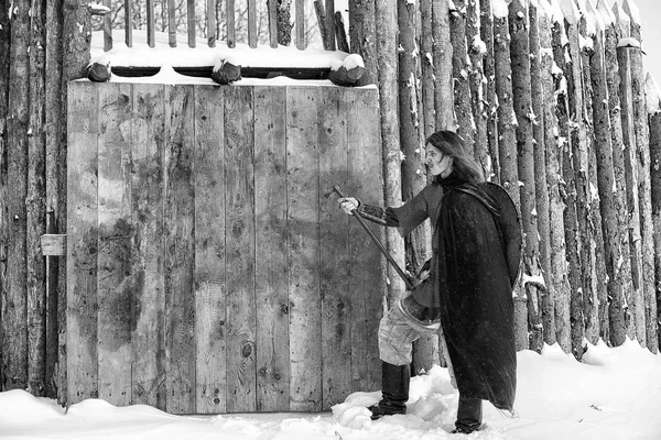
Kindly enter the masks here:
<path id="1" fill-rule="evenodd" d="M 383 262 L 327 197 L 382 200 L 377 94 L 69 84 L 69 403 L 318 411 L 380 387 Z"/>

